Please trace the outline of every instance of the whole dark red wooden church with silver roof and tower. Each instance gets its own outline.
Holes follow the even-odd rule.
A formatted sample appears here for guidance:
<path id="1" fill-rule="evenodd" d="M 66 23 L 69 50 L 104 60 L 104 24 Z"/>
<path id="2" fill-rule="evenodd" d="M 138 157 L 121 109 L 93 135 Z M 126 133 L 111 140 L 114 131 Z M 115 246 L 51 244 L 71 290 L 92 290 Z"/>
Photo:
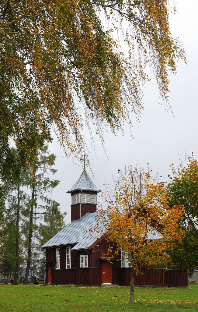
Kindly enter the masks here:
<path id="1" fill-rule="evenodd" d="M 89 229 L 97 224 L 99 192 L 85 170 L 67 192 L 71 193 L 71 223 L 42 246 L 46 248 L 46 283 L 130 285 L 131 269 L 122 248 L 120 257 L 115 256 L 110 263 L 102 258 L 109 245 L 104 236 L 90 236 Z M 156 230 L 151 236 L 157 239 Z M 142 274 L 135 277 L 137 286 L 187 286 L 187 274 L 182 270 L 159 268 L 158 274 L 147 268 L 139 270 Z"/>

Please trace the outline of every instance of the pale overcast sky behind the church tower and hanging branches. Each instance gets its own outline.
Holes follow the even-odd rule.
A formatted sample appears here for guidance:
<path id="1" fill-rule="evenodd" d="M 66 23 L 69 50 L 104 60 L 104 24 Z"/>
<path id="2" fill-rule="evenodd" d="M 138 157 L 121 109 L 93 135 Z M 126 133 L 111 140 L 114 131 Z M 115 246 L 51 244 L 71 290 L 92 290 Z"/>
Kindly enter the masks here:
<path id="1" fill-rule="evenodd" d="M 179 37 L 186 51 L 188 65 L 180 61 L 178 74 L 170 77 L 169 100 L 174 115 L 164 110 L 159 104 L 158 89 L 155 83 L 148 83 L 143 89 L 144 111 L 140 122 L 133 123 L 133 138 L 129 129 L 125 127 L 125 136 L 105 134 L 107 156 L 96 140 L 96 155 L 89 157 L 93 164 L 93 182 L 98 188 L 104 189 L 103 184 L 112 184 L 112 175 L 116 175 L 118 168 L 135 166 L 141 163 L 144 167 L 150 163 L 153 174 L 162 175 L 162 181 L 167 181 L 170 163 L 177 164 L 179 156 L 185 152 L 194 152 L 198 158 L 198 105 L 197 105 L 197 51 L 198 27 L 196 0 L 179 0 L 176 14 L 170 18 L 173 37 Z M 88 136 L 87 136 L 88 140 Z M 57 155 L 55 168 L 58 172 L 56 179 L 59 186 L 52 193 L 52 198 L 60 203 L 61 211 L 67 212 L 65 222 L 70 222 L 71 195 L 66 194 L 82 173 L 82 164 L 76 159 L 67 159 L 54 139 L 49 145 L 50 152 Z M 90 174 L 90 170 L 87 170 Z M 90 174 L 91 175 L 91 174 Z"/>

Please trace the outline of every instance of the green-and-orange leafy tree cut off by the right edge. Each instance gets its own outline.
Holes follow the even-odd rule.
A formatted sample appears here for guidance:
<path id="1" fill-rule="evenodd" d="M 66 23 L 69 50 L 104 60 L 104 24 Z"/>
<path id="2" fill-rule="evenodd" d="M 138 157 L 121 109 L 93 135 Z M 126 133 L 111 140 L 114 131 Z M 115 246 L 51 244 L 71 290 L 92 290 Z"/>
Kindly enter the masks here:
<path id="1" fill-rule="evenodd" d="M 180 165 L 171 165 L 168 185 L 171 205 L 184 207 L 184 218 L 179 220 L 179 227 L 186 235 L 172 250 L 174 261 L 192 276 L 198 267 L 198 161 L 193 153 L 180 161 Z"/>

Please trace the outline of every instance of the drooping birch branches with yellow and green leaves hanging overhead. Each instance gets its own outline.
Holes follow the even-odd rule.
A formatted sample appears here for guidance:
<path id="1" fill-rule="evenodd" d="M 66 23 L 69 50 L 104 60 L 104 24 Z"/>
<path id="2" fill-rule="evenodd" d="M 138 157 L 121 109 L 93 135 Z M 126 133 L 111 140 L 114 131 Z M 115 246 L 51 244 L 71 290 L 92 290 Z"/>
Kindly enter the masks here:
<path id="1" fill-rule="evenodd" d="M 107 30 L 102 14 L 109 21 Z M 180 42 L 171 36 L 168 15 L 164 0 L 1 1 L 3 157 L 10 138 L 21 155 L 33 157 L 34 132 L 39 142 L 48 142 L 51 125 L 67 154 L 83 149 L 85 122 L 95 126 L 100 138 L 104 125 L 113 132 L 122 128 L 130 112 L 142 110 L 140 85 L 149 79 L 148 64 L 166 99 L 168 73 L 176 71 L 176 58 L 185 61 Z M 113 37 L 122 26 L 126 55 Z"/>

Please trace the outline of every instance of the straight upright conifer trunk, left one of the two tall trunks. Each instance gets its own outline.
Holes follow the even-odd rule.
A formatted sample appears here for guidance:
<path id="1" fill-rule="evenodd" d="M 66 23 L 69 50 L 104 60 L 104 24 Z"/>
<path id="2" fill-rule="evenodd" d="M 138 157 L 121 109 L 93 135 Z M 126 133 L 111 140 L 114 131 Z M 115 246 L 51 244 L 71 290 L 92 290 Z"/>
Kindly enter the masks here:
<path id="1" fill-rule="evenodd" d="M 16 237 L 16 267 L 13 280 L 14 285 L 17 285 L 19 274 L 19 215 L 20 215 L 20 184 L 18 184 L 17 187 L 17 221 L 16 221 L 17 237 Z"/>

